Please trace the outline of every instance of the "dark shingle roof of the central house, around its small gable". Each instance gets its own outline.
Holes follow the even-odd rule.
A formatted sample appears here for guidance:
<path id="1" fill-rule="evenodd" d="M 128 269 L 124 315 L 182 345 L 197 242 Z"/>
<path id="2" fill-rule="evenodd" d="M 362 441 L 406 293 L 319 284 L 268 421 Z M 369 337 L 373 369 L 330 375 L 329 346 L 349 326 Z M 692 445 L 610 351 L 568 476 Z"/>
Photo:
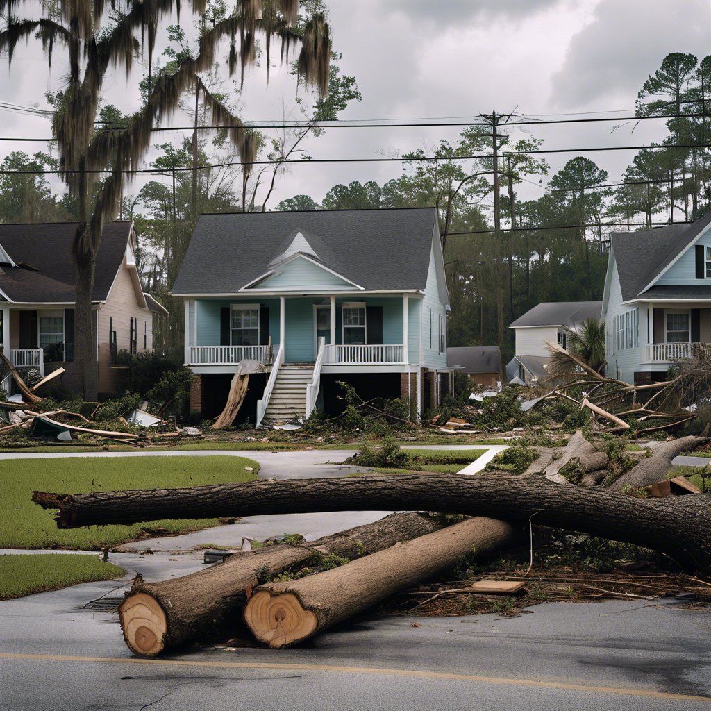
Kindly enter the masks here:
<path id="1" fill-rule="evenodd" d="M 173 294 L 235 294 L 301 231 L 322 262 L 363 289 L 424 289 L 434 208 L 201 215 Z"/>

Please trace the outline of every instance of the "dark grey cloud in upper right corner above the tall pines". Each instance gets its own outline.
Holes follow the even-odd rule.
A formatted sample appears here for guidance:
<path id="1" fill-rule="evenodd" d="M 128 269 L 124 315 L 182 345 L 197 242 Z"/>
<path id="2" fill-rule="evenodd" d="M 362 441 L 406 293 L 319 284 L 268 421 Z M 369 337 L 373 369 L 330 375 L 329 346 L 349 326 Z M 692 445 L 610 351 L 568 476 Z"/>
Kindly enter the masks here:
<path id="1" fill-rule="evenodd" d="M 710 49 L 707 0 L 675 0 L 673 8 L 649 0 L 602 0 L 592 21 L 570 38 L 564 64 L 552 77 L 551 100 L 566 108 L 632 106 L 665 55 L 701 58 Z"/>

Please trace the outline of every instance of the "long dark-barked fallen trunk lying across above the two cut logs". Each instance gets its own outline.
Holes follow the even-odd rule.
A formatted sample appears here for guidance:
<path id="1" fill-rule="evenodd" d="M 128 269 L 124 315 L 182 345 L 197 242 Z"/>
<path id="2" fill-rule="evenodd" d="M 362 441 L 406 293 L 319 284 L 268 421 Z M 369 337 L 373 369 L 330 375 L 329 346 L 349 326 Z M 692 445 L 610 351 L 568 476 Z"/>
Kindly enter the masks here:
<path id="1" fill-rule="evenodd" d="M 692 500 L 692 501 L 690 501 Z M 711 507 L 705 496 L 642 499 L 609 489 L 559 486 L 539 477 L 387 474 L 341 479 L 266 479 L 180 489 L 33 493 L 59 508 L 58 528 L 269 513 L 433 510 L 489 515 L 566 528 L 665 552 L 711 570 Z"/>

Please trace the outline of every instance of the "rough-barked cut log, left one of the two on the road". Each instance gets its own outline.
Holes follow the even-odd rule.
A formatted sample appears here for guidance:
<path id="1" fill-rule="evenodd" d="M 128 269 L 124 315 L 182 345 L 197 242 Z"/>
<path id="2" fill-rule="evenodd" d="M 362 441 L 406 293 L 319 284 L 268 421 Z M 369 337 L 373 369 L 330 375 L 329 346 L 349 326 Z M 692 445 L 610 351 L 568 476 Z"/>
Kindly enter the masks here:
<path id="1" fill-rule="evenodd" d="M 155 656 L 200 636 L 208 636 L 234 618 L 247 589 L 284 570 L 304 565 L 314 552 L 353 560 L 444 528 L 420 513 L 393 513 L 375 523 L 302 545 L 275 545 L 237 553 L 221 565 L 184 577 L 143 582 L 139 576 L 119 606 L 124 640 L 141 656 Z"/>

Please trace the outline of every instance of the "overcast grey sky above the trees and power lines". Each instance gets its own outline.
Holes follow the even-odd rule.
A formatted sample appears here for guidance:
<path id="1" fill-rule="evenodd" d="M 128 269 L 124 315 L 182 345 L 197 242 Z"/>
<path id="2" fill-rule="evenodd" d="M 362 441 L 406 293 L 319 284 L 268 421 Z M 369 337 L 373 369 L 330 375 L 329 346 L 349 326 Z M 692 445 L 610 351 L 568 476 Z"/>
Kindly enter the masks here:
<path id="1" fill-rule="evenodd" d="M 342 53 L 341 73 L 355 76 L 363 101 L 341 119 L 475 117 L 479 112 L 517 112 L 533 117 L 594 112 L 634 112 L 646 77 L 670 52 L 702 58 L 711 52 L 711 0 L 326 0 L 333 49 Z M 185 14 L 185 13 L 183 13 Z M 19 47 L 11 72 L 0 69 L 3 100 L 47 107 L 44 92 L 63 77 L 60 50 L 48 77 L 41 50 Z M 278 53 L 277 53 L 278 55 Z M 241 99 L 247 120 L 298 118 L 294 77 L 278 67 L 269 87 L 264 69 L 247 75 Z M 119 72 L 105 86 L 105 101 L 124 111 L 138 106 L 137 80 Z M 49 122 L 0 111 L 1 137 L 46 137 Z M 466 120 L 466 119 L 465 119 Z M 176 115 L 173 125 L 189 123 Z M 632 146 L 664 135 L 663 122 L 562 124 L 528 127 L 546 148 Z M 429 149 L 438 139 L 456 139 L 459 129 L 390 127 L 331 129 L 307 144 L 318 158 L 368 157 Z M 516 133 L 515 137 L 523 134 Z M 165 134 L 178 141 L 178 132 Z M 157 142 L 157 141 L 156 141 Z M 31 152 L 43 144 L 3 141 Z M 572 155 L 548 156 L 552 173 Z M 616 181 L 634 151 L 587 154 Z M 149 160 L 150 156 L 147 158 Z M 269 205 L 297 193 L 321 201 L 328 188 L 353 180 L 380 183 L 397 176 L 400 164 L 311 164 L 293 166 L 277 183 Z M 142 180 L 137 181 L 136 188 Z M 533 198 L 542 189 L 522 188 Z"/>

